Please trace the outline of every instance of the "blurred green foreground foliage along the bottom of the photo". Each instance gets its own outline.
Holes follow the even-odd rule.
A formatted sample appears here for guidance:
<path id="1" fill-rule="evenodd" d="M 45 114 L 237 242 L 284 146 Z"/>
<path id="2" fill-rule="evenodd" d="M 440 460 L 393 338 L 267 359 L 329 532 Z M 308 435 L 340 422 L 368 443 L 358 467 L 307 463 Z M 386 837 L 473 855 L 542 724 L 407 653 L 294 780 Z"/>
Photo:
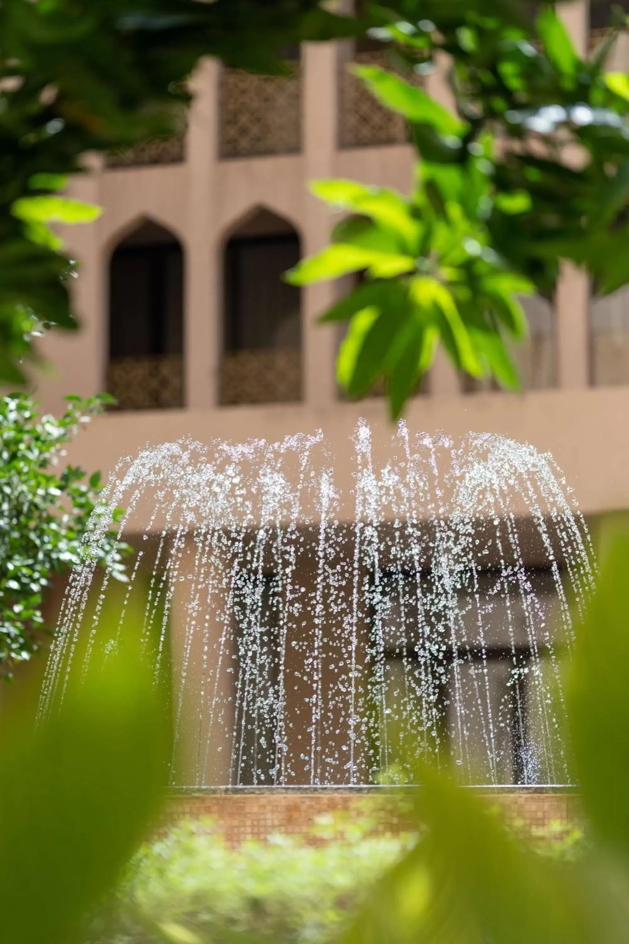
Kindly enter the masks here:
<path id="1" fill-rule="evenodd" d="M 321 848 L 298 850 L 285 839 L 236 853 L 203 827 L 174 829 L 144 847 L 131 867 L 122 892 L 127 911 L 122 927 L 108 931 L 109 944 L 260 944 L 328 934 L 341 944 L 624 941 L 628 567 L 623 534 L 578 627 L 565 692 L 588 823 L 588 844 L 578 855 L 577 834 L 560 854 L 539 855 L 507 832 L 475 791 L 425 768 L 415 796 L 426 829 L 406 852 L 404 842 L 362 837 L 356 845 L 349 835 Z M 130 614 L 128 626 L 138 618 Z M 150 660 L 130 647 L 128 630 L 122 639 L 126 645 L 121 641 L 97 671 L 92 663 L 87 684 L 71 685 L 70 700 L 34 740 L 14 725 L 0 738 L 0 906 L 7 939 L 16 944 L 85 940 L 89 908 L 112 886 L 157 807 L 169 753 L 165 713 L 144 674 Z M 356 899 L 362 903 L 344 927 L 343 913 Z"/>

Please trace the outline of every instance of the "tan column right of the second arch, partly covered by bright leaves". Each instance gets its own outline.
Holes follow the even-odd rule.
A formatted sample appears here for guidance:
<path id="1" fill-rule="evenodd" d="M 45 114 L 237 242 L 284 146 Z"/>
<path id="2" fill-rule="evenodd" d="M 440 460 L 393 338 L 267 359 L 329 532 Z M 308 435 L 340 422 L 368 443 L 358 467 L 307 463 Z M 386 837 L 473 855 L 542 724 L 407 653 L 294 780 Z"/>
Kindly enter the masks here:
<path id="1" fill-rule="evenodd" d="M 337 149 L 337 46 L 305 43 L 303 49 L 304 158 L 306 181 L 334 177 Z M 306 194 L 303 255 L 329 243 L 334 217 L 328 207 Z M 331 406 L 336 399 L 336 335 L 317 319 L 339 297 L 339 285 L 320 282 L 304 290 L 304 399 L 309 406 Z"/>

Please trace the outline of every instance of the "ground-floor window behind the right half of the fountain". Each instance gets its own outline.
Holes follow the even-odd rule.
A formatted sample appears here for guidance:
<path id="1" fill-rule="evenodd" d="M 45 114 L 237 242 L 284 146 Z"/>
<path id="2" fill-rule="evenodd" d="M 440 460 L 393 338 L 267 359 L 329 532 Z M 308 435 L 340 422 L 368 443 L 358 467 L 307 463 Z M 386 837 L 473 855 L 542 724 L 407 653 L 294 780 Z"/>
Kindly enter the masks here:
<path id="1" fill-rule="evenodd" d="M 549 763 L 538 741 L 555 581 L 531 568 L 521 579 L 478 571 L 472 582 L 454 594 L 430 572 L 384 573 L 373 583 L 381 742 L 410 736 L 480 783 L 535 783 Z M 382 766 L 391 760 L 383 754 Z"/>

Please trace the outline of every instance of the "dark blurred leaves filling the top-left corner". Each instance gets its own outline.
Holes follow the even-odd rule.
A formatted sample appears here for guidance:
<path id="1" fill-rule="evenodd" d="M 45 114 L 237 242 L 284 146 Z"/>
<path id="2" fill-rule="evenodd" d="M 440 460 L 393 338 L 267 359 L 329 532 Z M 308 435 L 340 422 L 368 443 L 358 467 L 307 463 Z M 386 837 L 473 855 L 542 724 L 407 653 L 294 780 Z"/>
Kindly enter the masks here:
<path id="1" fill-rule="evenodd" d="M 204 56 L 278 72 L 283 46 L 354 31 L 319 0 L 0 0 L 0 380 L 38 321 L 75 327 L 48 224 L 98 212 L 58 195 L 83 155 L 180 130 Z"/>

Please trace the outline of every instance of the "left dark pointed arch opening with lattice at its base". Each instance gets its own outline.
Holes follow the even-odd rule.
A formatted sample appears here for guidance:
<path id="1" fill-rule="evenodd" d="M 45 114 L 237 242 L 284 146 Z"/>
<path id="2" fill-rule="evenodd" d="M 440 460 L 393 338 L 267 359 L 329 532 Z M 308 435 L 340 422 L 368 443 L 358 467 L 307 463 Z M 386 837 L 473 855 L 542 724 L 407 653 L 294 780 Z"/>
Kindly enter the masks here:
<path id="1" fill-rule="evenodd" d="M 109 261 L 108 393 L 120 410 L 184 405 L 183 250 L 142 221 Z"/>

